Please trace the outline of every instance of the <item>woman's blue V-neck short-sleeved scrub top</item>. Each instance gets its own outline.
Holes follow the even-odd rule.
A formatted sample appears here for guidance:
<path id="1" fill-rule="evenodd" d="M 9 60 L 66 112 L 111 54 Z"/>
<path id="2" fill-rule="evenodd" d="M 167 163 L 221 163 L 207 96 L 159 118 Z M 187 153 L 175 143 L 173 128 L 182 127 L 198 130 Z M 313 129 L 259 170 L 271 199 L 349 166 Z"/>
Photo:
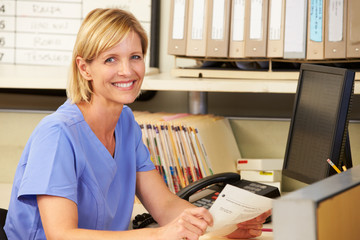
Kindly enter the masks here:
<path id="1" fill-rule="evenodd" d="M 115 128 L 114 157 L 66 101 L 32 133 L 18 164 L 5 231 L 9 239 L 46 239 L 36 195 L 68 198 L 79 228 L 128 229 L 137 171 L 154 168 L 141 130 L 127 106 Z"/>

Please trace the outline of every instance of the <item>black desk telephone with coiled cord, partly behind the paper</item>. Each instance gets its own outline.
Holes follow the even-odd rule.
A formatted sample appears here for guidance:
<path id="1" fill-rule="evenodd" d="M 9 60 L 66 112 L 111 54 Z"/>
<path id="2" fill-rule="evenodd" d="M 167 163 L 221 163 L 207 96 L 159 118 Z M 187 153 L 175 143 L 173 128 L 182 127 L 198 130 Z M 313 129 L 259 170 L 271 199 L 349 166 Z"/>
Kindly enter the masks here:
<path id="1" fill-rule="evenodd" d="M 277 187 L 244 179 L 241 180 L 240 175 L 233 172 L 218 173 L 202 178 L 189 184 L 176 194 L 179 197 L 190 201 L 195 206 L 210 208 L 217 198 L 217 195 L 221 192 L 226 184 L 240 187 L 255 194 L 269 198 L 277 198 L 280 196 L 280 191 Z M 266 222 L 270 221 L 271 217 L 269 217 Z M 152 223 L 156 222 L 150 214 L 139 214 L 133 220 L 133 229 L 143 228 Z"/>

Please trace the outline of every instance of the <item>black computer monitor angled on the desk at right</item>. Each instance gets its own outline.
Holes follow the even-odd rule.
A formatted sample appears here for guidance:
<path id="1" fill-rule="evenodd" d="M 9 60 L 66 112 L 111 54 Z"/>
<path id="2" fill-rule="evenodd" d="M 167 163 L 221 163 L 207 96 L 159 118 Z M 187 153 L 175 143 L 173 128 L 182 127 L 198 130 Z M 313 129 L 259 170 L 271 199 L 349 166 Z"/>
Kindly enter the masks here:
<path id="1" fill-rule="evenodd" d="M 300 68 L 283 174 L 311 184 L 352 167 L 348 122 L 355 73 L 314 64 Z"/>

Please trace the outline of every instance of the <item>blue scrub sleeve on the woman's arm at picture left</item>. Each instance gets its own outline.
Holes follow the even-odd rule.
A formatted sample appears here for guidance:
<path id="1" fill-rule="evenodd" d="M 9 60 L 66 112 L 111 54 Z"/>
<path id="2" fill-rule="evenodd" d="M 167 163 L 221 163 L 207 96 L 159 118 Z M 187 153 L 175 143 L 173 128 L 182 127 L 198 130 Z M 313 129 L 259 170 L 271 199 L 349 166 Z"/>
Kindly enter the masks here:
<path id="1" fill-rule="evenodd" d="M 41 126 L 32 136 L 18 198 L 53 195 L 77 203 L 74 152 L 59 125 Z"/>

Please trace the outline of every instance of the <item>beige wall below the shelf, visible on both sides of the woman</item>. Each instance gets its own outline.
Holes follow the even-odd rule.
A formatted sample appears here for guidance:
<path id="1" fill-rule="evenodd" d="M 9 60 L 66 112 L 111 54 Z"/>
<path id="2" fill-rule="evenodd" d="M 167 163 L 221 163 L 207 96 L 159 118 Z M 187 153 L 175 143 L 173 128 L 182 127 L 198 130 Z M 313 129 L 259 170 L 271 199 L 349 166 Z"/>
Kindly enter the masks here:
<path id="1" fill-rule="evenodd" d="M 39 121 L 47 112 L 0 112 L 0 183 L 12 183 L 17 163 L 25 144 Z M 290 120 L 230 119 L 235 139 L 244 158 L 283 158 Z M 349 126 L 354 165 L 360 164 L 360 122 Z M 283 179 L 283 190 L 303 186 Z"/>

